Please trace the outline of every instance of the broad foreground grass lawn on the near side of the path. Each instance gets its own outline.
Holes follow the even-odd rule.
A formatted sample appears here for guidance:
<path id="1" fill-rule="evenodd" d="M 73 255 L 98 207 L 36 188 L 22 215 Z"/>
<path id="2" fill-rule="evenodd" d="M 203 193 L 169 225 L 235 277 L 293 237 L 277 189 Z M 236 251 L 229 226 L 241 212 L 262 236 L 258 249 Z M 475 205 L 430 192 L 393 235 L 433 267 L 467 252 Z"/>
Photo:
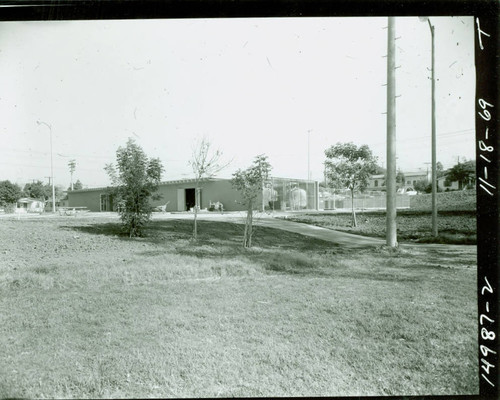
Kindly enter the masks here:
<path id="1" fill-rule="evenodd" d="M 190 229 L 1 221 L 0 397 L 478 393 L 474 246 Z"/>

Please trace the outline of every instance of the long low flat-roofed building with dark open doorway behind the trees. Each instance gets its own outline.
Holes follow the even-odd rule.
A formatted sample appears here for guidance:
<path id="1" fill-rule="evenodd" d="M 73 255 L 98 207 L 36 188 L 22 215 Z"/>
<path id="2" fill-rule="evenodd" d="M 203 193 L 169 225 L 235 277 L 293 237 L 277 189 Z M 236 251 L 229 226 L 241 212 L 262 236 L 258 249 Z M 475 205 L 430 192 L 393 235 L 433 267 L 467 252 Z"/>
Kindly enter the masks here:
<path id="1" fill-rule="evenodd" d="M 210 209 L 222 203 L 224 211 L 243 211 L 240 193 L 231 185 L 230 179 L 206 179 L 200 185 L 200 209 Z M 87 207 L 90 211 L 116 211 L 111 188 L 100 187 L 68 191 L 69 207 Z M 153 207 L 165 211 L 189 211 L 195 206 L 195 179 L 166 181 L 160 184 L 159 200 L 151 200 Z M 317 181 L 302 179 L 270 178 L 265 185 L 256 207 L 270 210 L 317 210 L 319 207 L 319 185 Z"/>

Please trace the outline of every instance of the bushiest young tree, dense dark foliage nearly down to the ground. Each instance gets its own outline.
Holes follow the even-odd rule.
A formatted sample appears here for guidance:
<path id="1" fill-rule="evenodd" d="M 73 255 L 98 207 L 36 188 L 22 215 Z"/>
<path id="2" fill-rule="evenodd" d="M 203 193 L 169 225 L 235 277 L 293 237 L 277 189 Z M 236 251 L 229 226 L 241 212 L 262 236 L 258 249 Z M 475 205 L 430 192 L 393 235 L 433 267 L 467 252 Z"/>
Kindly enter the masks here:
<path id="1" fill-rule="evenodd" d="M 121 205 L 120 219 L 129 237 L 142 236 L 153 209 L 149 200 L 159 198 L 155 193 L 163 166 L 158 158 L 148 158 L 133 139 L 118 148 L 116 164 L 116 169 L 113 164 L 104 169 L 111 179 L 111 193 Z"/>

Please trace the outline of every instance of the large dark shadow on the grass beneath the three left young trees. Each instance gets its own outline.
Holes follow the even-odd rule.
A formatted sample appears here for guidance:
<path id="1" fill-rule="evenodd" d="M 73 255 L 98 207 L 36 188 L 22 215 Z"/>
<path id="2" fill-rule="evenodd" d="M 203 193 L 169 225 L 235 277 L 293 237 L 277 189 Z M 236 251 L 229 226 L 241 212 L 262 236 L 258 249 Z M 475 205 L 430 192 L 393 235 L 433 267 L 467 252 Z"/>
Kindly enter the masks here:
<path id="1" fill-rule="evenodd" d="M 242 246 L 244 226 L 233 222 L 198 221 L 198 240 L 193 241 L 192 220 L 151 221 L 145 229 L 145 236 L 129 238 L 123 233 L 120 223 L 108 222 L 81 226 L 65 226 L 91 235 L 105 235 L 123 242 L 152 244 L 153 248 L 136 254 L 144 257 L 158 257 L 163 254 L 219 259 L 234 258 L 251 261 L 270 273 L 294 275 L 322 274 L 311 255 L 328 257 L 348 251 L 341 246 L 324 240 L 303 236 L 280 229 L 256 226 L 254 246 Z M 125 244 L 125 243 L 124 243 Z"/>

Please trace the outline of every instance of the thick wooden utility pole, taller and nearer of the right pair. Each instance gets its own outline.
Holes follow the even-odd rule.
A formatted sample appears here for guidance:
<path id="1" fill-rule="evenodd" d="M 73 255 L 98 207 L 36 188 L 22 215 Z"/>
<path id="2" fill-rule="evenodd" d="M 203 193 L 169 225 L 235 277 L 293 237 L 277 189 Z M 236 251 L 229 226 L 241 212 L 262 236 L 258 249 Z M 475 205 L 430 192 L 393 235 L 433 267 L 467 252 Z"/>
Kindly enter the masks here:
<path id="1" fill-rule="evenodd" d="M 387 29 L 387 207 L 386 244 L 397 247 L 396 232 L 396 56 L 395 18 L 389 17 Z"/>

